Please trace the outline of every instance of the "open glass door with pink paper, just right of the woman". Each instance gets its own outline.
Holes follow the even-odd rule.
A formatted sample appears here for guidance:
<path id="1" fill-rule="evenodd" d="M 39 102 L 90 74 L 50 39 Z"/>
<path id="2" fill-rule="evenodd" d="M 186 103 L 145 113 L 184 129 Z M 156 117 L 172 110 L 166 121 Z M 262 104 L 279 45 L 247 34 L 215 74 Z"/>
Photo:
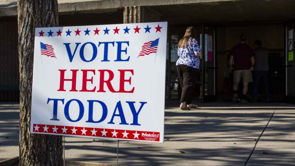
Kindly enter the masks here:
<path id="1" fill-rule="evenodd" d="M 204 38 L 203 38 L 204 36 Z M 202 102 L 217 101 L 216 95 L 216 28 L 203 23 L 202 48 Z M 204 43 L 204 44 L 203 44 Z M 204 89 L 204 90 L 203 90 Z"/>

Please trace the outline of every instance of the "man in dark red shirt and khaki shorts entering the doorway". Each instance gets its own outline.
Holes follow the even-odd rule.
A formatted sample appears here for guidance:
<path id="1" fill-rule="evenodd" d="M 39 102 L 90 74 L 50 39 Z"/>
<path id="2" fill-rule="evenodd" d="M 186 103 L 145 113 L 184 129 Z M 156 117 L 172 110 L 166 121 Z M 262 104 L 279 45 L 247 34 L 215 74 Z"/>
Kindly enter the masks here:
<path id="1" fill-rule="evenodd" d="M 230 51 L 230 72 L 234 71 L 234 97 L 232 102 L 236 102 L 238 99 L 238 84 L 241 78 L 243 79 L 243 95 L 241 103 L 248 103 L 246 100 L 246 94 L 248 91 L 248 82 L 252 82 L 252 73 L 254 67 L 254 56 L 253 49 L 245 44 L 246 36 L 240 37 L 240 44 L 235 45 Z M 234 64 L 234 67 L 233 67 Z"/>

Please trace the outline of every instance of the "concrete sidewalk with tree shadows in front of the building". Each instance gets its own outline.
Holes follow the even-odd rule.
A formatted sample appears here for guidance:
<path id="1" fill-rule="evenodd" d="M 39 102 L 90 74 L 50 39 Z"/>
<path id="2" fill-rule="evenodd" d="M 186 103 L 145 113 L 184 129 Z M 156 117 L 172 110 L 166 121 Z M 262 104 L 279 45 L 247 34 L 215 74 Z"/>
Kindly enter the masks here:
<path id="1" fill-rule="evenodd" d="M 18 156 L 18 105 L 0 103 L 0 160 Z M 119 142 L 120 165 L 294 165 L 295 105 L 165 102 L 164 143 Z M 8 138 L 7 138 L 8 137 Z M 116 164 L 117 142 L 65 138 L 65 159 Z"/>

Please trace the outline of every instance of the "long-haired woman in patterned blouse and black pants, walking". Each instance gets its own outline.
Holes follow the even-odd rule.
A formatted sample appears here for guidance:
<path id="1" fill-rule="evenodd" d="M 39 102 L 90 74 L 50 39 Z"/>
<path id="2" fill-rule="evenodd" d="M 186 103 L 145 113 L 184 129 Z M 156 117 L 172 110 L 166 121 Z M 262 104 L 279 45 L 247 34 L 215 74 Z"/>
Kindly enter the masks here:
<path id="1" fill-rule="evenodd" d="M 196 39 L 196 30 L 194 27 L 188 27 L 183 38 L 179 40 L 178 56 L 176 69 L 182 88 L 179 109 L 194 109 L 197 108 L 197 105 L 192 104 L 192 92 L 199 76 L 199 56 L 201 56 L 201 49 Z"/>

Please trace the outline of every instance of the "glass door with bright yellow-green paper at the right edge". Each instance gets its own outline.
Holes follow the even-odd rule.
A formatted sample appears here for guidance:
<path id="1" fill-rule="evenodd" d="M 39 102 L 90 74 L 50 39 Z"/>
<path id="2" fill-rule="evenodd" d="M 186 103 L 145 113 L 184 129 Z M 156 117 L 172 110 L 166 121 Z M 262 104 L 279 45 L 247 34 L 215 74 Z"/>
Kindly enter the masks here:
<path id="1" fill-rule="evenodd" d="M 285 101 L 295 104 L 295 22 L 286 25 L 285 36 L 285 67 L 286 67 L 286 94 Z"/>

